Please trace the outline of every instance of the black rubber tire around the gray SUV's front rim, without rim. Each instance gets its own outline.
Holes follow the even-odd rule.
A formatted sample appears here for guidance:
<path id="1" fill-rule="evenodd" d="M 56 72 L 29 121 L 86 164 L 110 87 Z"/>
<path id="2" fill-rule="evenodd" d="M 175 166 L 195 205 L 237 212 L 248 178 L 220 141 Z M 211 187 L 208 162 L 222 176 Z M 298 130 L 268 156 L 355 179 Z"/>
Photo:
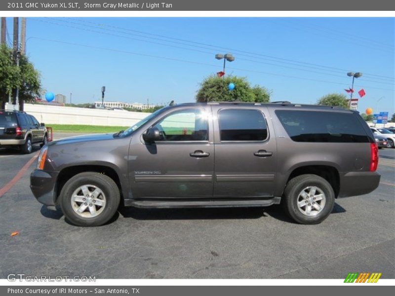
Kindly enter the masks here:
<path id="1" fill-rule="evenodd" d="M 81 217 L 72 206 L 72 195 L 82 185 L 94 185 L 105 195 L 105 207 L 95 217 Z M 77 226 L 100 226 L 108 222 L 117 213 L 120 193 L 117 184 L 110 177 L 95 173 L 84 172 L 72 177 L 63 186 L 59 196 L 59 204 L 69 222 Z"/>

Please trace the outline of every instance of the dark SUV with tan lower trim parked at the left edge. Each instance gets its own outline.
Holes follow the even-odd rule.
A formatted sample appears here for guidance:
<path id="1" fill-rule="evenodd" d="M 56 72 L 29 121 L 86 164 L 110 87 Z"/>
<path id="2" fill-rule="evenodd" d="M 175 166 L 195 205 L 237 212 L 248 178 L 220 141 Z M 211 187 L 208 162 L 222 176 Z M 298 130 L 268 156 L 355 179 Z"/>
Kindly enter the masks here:
<path id="1" fill-rule="evenodd" d="M 47 143 L 47 130 L 43 123 L 26 112 L 0 110 L 0 148 L 20 148 L 31 153 L 32 145 Z"/>

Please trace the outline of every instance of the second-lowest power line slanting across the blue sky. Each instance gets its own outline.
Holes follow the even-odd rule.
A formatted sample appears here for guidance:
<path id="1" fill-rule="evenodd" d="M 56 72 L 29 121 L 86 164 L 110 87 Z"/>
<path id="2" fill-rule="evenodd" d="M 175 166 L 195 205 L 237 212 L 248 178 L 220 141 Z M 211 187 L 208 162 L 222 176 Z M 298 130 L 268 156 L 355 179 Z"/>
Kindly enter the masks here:
<path id="1" fill-rule="evenodd" d="M 51 18 L 49 18 L 51 19 Z M 36 19 L 34 19 L 36 20 Z M 55 19 L 57 20 L 57 19 Z M 198 50 L 198 49 L 194 49 L 194 48 L 186 48 L 186 47 L 181 47 L 181 46 L 176 46 L 176 45 L 172 45 L 172 44 L 164 44 L 164 43 L 160 43 L 160 42 L 155 42 L 155 41 L 150 41 L 150 40 L 144 40 L 144 39 L 139 39 L 139 38 L 133 38 L 133 37 L 126 37 L 126 36 L 121 36 L 121 35 L 116 35 L 116 34 L 111 34 L 111 33 L 107 33 L 107 32 L 103 32 L 102 30 L 100 31 L 96 31 L 96 30 L 90 30 L 90 29 L 85 29 L 85 28 L 80 28 L 80 27 L 75 27 L 75 26 L 70 26 L 70 25 L 65 25 L 65 24 L 58 24 L 58 23 L 53 23 L 53 22 L 48 22 L 48 21 L 43 21 L 43 20 L 38 20 L 40 22 L 46 22 L 46 23 L 50 23 L 50 24 L 55 24 L 58 26 L 65 26 L 65 27 L 70 27 L 70 28 L 74 28 L 74 29 L 78 29 L 78 30 L 83 30 L 83 31 L 88 31 L 88 32 L 93 32 L 93 33 L 97 33 L 97 34 L 104 34 L 104 35 L 109 35 L 109 36 L 115 36 L 115 37 L 122 37 L 122 38 L 128 38 L 128 39 L 132 39 L 132 40 L 137 40 L 137 41 L 143 41 L 143 42 L 149 42 L 149 43 L 154 43 L 154 44 L 159 44 L 159 45 L 164 45 L 164 46 L 169 46 L 169 47 L 174 47 L 174 48 L 180 48 L 180 49 L 186 49 L 186 50 L 190 50 L 190 51 L 196 51 L 196 52 L 200 52 L 200 53 L 207 53 L 207 54 L 212 54 L 212 51 L 208 52 L 208 51 L 203 51 L 203 50 Z M 63 21 L 63 20 L 61 20 Z M 63 21 L 63 22 L 68 22 L 68 21 Z M 68 23 L 72 23 L 72 24 L 77 24 L 77 23 L 73 23 L 73 22 L 68 22 Z M 79 24 L 77 24 L 79 25 Z M 92 26 L 88 26 L 91 27 Z M 96 29 L 96 27 L 93 27 Z M 109 29 L 105 29 L 105 30 L 109 30 Z M 110 30 L 110 31 L 114 31 L 114 30 Z M 116 31 L 118 33 L 118 31 Z M 122 32 L 121 32 L 122 33 Z M 123 34 L 123 33 L 122 33 Z M 134 35 L 134 34 L 132 34 Z M 144 37 L 144 36 L 143 36 Z M 154 39 L 158 39 L 158 38 L 154 38 Z M 168 40 L 163 40 L 163 39 L 158 39 L 158 40 L 162 40 L 165 42 L 173 42 L 173 41 L 168 41 Z M 188 45 L 191 46 L 189 44 L 184 44 L 184 43 L 180 43 L 180 42 L 176 42 L 178 44 L 182 44 L 182 45 Z M 201 46 L 199 46 L 201 47 Z M 211 48 L 207 48 L 207 47 L 203 47 L 209 50 L 213 50 Z M 245 56 L 245 55 L 244 55 Z M 246 55 L 247 57 L 251 57 Z M 255 58 L 255 57 L 252 57 Z M 266 64 L 266 65 L 273 65 L 276 67 L 282 67 L 282 68 L 288 68 L 288 69 L 293 69 L 293 70 L 297 70 L 297 71 L 307 71 L 307 72 L 313 72 L 313 73 L 317 73 L 317 74 L 324 74 L 324 75 L 331 75 L 331 76 L 337 76 L 337 77 L 341 77 L 343 78 L 343 75 L 335 75 L 335 74 L 328 74 L 328 73 L 323 73 L 323 72 L 318 72 L 318 71 L 312 71 L 312 70 L 307 70 L 307 69 L 301 69 L 301 68 L 295 68 L 295 67 L 288 67 L 288 66 L 283 66 L 283 65 L 276 65 L 273 63 L 267 63 L 267 62 L 262 62 L 262 61 L 257 61 L 257 60 L 250 60 L 250 59 L 243 59 L 243 58 L 239 58 L 240 60 L 245 60 L 245 61 L 250 61 L 250 62 L 254 62 L 254 63 L 260 63 L 260 64 Z M 278 62 L 278 61 L 275 61 Z M 282 62 L 285 63 L 285 62 Z M 294 64 L 294 63 L 285 63 L 285 64 L 290 64 L 290 65 L 296 65 L 299 67 L 308 67 L 308 66 L 304 66 L 304 65 L 298 65 L 298 64 Z M 325 69 L 320 69 L 320 68 L 315 68 L 315 67 L 308 67 L 308 68 L 313 68 L 313 69 L 318 69 L 321 71 L 330 71 L 330 70 L 325 70 Z M 337 72 L 337 71 L 334 71 Z M 344 73 L 344 72 L 342 72 Z M 378 79 L 378 78 L 372 78 L 372 79 Z M 385 79 L 384 79 L 385 80 Z M 367 80 L 367 81 L 371 81 L 373 83 L 381 83 L 381 84 L 390 84 L 393 85 L 393 83 L 389 83 L 389 82 L 381 82 L 381 81 L 374 81 L 374 80 Z"/>

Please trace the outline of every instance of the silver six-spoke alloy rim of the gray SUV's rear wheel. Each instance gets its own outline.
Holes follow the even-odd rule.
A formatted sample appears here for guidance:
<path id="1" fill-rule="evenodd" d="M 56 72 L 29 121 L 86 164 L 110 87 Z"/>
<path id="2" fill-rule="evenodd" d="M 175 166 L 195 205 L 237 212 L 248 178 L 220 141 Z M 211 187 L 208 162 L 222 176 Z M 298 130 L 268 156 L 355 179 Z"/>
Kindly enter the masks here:
<path id="1" fill-rule="evenodd" d="M 325 194 L 317 186 L 308 186 L 298 195 L 298 209 L 306 216 L 314 217 L 325 207 Z"/>

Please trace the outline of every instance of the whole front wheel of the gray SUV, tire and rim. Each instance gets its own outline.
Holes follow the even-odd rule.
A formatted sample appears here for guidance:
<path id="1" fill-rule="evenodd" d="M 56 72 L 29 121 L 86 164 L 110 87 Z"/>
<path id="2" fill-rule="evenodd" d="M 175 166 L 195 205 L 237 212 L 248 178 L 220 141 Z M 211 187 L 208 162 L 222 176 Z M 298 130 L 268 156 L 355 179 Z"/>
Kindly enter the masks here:
<path id="1" fill-rule="evenodd" d="M 60 193 L 60 206 L 65 217 L 78 226 L 99 226 L 117 212 L 120 194 L 110 177 L 84 172 L 72 177 Z"/>

